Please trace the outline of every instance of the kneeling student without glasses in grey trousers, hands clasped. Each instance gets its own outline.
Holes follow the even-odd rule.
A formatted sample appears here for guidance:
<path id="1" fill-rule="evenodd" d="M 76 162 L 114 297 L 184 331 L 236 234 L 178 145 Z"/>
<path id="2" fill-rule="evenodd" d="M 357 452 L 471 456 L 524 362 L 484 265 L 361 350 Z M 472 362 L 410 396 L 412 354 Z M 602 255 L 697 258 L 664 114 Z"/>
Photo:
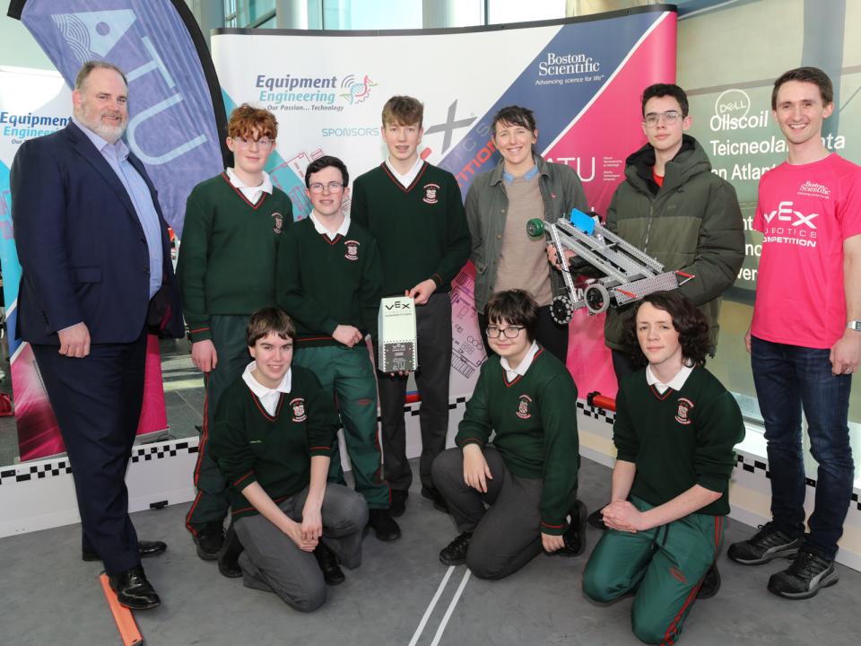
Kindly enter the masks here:
<path id="1" fill-rule="evenodd" d="M 361 564 L 368 507 L 360 494 L 326 484 L 338 415 L 314 373 L 291 367 L 295 337 L 282 310 L 251 316 L 254 362 L 224 391 L 210 441 L 230 483 L 245 585 L 310 612 L 326 600 L 326 583 L 344 581 L 338 561 Z"/>

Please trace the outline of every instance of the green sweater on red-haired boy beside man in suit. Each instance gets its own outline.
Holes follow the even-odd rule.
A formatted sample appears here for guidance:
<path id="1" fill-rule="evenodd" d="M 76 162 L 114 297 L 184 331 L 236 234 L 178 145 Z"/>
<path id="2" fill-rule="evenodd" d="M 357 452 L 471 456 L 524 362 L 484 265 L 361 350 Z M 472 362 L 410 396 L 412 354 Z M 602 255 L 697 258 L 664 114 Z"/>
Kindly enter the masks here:
<path id="1" fill-rule="evenodd" d="M 177 277 L 192 342 L 212 338 L 213 314 L 250 315 L 275 303 L 275 258 L 293 222 L 280 188 L 257 205 L 222 173 L 188 196 Z"/>

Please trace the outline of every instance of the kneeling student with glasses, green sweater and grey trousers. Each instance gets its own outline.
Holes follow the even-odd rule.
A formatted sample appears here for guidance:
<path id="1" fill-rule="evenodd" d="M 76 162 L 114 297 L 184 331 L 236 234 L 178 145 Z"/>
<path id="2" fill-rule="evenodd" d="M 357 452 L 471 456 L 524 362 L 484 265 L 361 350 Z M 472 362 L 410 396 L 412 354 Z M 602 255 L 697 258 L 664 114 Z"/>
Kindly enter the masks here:
<path id="1" fill-rule="evenodd" d="M 535 343 L 538 306 L 523 290 L 510 290 L 494 294 L 485 314 L 499 356 L 484 362 L 458 448 L 434 460 L 432 475 L 462 532 L 439 560 L 501 579 L 542 547 L 580 554 L 587 514 L 577 500 L 577 387 L 562 362 Z"/>

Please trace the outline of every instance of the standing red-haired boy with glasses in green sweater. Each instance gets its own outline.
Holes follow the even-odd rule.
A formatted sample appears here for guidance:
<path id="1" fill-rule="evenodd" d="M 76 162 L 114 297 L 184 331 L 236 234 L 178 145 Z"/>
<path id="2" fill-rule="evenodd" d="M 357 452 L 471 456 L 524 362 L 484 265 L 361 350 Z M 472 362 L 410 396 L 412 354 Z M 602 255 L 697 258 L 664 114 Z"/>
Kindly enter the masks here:
<path id="1" fill-rule="evenodd" d="M 204 373 L 204 425 L 195 467 L 197 495 L 186 527 L 197 555 L 214 560 L 229 508 L 226 483 L 206 446 L 224 388 L 248 363 L 245 327 L 255 310 L 275 303 L 275 258 L 293 221 L 288 197 L 263 170 L 275 147 L 272 112 L 243 104 L 227 124 L 235 165 L 198 184 L 186 205 L 177 275 L 190 329 L 191 358 Z M 222 573 L 239 571 L 220 563 Z"/>

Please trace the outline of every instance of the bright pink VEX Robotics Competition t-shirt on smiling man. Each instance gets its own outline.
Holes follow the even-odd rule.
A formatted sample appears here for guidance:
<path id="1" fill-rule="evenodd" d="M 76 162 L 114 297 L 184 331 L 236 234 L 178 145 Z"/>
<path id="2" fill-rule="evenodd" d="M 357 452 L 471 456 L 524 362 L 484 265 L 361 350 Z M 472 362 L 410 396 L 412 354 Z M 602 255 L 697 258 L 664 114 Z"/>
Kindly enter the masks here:
<path id="1" fill-rule="evenodd" d="M 843 240 L 861 234 L 861 166 L 833 153 L 780 164 L 760 180 L 753 228 L 765 238 L 752 335 L 830 348 L 847 322 Z"/>

